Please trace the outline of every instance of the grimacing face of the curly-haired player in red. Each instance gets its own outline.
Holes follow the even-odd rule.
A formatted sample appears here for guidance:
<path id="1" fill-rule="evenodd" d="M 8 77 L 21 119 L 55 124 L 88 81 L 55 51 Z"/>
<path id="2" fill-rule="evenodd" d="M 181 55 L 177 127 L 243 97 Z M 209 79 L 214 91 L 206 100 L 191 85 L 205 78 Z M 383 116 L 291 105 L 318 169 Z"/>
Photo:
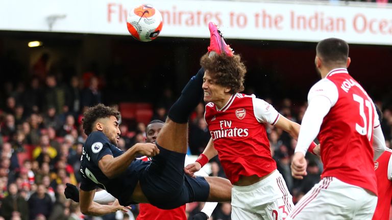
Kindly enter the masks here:
<path id="1" fill-rule="evenodd" d="M 217 104 L 217 102 L 219 103 L 224 101 L 228 95 L 227 90 L 230 91 L 230 89 L 217 84 L 216 80 L 211 77 L 208 70 L 204 72 L 202 88 L 204 91 L 204 101 L 214 102 L 215 104 Z"/>

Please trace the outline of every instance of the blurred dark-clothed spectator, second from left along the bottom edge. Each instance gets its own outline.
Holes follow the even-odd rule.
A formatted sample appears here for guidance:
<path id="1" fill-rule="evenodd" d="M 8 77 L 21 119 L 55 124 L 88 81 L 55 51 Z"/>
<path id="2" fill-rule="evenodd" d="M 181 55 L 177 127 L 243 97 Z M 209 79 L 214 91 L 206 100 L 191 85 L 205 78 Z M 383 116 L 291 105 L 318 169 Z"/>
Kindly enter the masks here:
<path id="1" fill-rule="evenodd" d="M 46 193 L 44 185 L 39 184 L 36 193 L 31 195 L 29 199 L 30 220 L 34 220 L 39 214 L 49 217 L 52 211 L 52 199 Z"/>

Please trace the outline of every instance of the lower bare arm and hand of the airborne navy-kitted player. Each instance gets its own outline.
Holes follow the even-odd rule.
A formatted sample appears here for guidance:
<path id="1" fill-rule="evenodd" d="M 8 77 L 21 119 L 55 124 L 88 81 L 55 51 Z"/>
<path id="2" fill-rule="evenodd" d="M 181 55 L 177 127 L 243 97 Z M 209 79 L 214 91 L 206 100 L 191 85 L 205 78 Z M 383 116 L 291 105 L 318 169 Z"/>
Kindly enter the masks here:
<path id="1" fill-rule="evenodd" d="M 93 202 L 95 189 L 91 191 L 80 190 L 79 200 L 80 200 L 80 211 L 85 215 L 100 216 L 104 214 L 109 214 L 121 210 L 127 212 L 131 207 L 121 206 L 116 200 L 112 205 L 101 205 Z"/>

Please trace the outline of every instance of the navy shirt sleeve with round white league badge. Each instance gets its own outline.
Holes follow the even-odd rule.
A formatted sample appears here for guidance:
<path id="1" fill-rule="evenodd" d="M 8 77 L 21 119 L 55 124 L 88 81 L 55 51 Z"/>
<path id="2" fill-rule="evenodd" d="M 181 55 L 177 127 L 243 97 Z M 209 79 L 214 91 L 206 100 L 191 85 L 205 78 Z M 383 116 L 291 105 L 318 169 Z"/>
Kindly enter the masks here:
<path id="1" fill-rule="evenodd" d="M 91 155 L 91 162 L 95 164 L 95 166 L 98 166 L 98 161 L 100 159 L 107 155 L 113 155 L 113 152 L 111 151 L 110 148 L 110 142 L 108 137 L 101 131 L 95 131 L 91 133 L 91 139 L 89 140 L 89 146 L 86 146 L 86 148 L 89 148 L 88 151 L 90 151 Z"/>

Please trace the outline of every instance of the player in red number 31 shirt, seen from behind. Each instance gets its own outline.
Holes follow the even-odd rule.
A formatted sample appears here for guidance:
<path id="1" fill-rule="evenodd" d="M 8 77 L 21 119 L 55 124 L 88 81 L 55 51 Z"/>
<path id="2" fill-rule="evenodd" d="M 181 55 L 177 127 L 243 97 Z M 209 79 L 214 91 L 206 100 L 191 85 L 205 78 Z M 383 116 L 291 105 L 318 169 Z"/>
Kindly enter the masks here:
<path id="1" fill-rule="evenodd" d="M 373 161 L 385 141 L 372 99 L 347 71 L 348 54 L 340 39 L 317 44 L 315 66 L 322 79 L 309 91 L 291 172 L 299 179 L 306 175 L 306 150 L 317 134 L 324 171 L 287 219 L 371 219 L 376 208 Z"/>

